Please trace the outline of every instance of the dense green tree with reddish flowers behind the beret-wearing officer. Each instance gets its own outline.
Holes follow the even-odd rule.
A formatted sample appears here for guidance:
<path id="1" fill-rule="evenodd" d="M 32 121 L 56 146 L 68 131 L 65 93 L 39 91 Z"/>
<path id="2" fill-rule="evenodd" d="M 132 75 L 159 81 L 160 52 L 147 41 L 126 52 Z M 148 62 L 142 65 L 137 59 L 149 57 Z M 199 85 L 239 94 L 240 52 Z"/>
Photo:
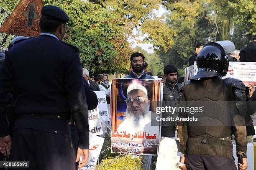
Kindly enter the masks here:
<path id="1" fill-rule="evenodd" d="M 18 0 L 0 5 L 8 10 Z M 44 5 L 56 5 L 69 15 L 64 41 L 77 46 L 83 67 L 91 74 L 123 73 L 129 68 L 132 49 L 128 43 L 127 25 L 115 11 L 81 0 L 44 0 Z M 117 64 L 118 63 L 118 64 Z"/>

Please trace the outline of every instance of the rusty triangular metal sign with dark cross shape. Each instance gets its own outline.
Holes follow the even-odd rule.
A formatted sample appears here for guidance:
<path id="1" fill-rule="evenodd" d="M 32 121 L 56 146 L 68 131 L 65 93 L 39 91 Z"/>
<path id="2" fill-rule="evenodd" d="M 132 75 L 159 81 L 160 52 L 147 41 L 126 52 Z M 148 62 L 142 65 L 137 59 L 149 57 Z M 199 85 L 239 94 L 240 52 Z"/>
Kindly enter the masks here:
<path id="1" fill-rule="evenodd" d="M 42 0 L 20 0 L 0 27 L 0 32 L 26 37 L 40 35 L 39 19 L 43 6 Z"/>

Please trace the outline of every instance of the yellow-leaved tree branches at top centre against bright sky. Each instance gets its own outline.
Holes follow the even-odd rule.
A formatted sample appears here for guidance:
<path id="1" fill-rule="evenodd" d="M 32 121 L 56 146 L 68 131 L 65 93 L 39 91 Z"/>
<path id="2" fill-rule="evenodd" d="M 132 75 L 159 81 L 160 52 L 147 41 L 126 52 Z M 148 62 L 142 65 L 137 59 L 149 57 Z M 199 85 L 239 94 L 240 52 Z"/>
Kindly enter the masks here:
<path id="1" fill-rule="evenodd" d="M 156 16 L 156 9 L 162 4 L 161 0 L 90 0 L 102 7 L 110 8 L 122 18 L 123 25 L 127 25 L 132 31 L 136 28 L 145 34 L 143 43 L 152 43 L 156 50 L 171 49 L 174 44 L 175 31 L 166 21 Z"/>

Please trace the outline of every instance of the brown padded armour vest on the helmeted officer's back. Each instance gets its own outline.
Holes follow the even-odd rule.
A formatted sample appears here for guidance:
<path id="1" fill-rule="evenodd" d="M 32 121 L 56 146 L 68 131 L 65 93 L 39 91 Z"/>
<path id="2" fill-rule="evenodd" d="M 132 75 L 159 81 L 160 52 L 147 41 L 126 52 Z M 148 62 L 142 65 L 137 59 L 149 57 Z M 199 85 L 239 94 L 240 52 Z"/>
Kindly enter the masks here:
<path id="1" fill-rule="evenodd" d="M 189 115 L 197 117 L 197 121 L 188 122 L 189 137 L 202 138 L 202 143 L 207 139 L 230 140 L 233 116 L 227 101 L 232 100 L 232 87 L 215 76 L 189 81 L 182 90 L 187 107 L 203 107 L 202 113 Z"/>

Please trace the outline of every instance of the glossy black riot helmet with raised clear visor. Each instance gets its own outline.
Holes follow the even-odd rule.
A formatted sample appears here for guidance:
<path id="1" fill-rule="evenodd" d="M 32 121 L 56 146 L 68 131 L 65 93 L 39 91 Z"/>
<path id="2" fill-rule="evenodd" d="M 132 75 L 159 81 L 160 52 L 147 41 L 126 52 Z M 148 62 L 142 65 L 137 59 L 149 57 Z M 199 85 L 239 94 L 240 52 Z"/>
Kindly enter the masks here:
<path id="1" fill-rule="evenodd" d="M 210 76 L 225 76 L 228 72 L 228 55 L 235 50 L 231 41 L 218 41 L 205 44 L 197 56 L 197 78 Z M 210 72 L 210 73 L 209 73 Z M 203 76 L 206 75 L 207 76 Z"/>

